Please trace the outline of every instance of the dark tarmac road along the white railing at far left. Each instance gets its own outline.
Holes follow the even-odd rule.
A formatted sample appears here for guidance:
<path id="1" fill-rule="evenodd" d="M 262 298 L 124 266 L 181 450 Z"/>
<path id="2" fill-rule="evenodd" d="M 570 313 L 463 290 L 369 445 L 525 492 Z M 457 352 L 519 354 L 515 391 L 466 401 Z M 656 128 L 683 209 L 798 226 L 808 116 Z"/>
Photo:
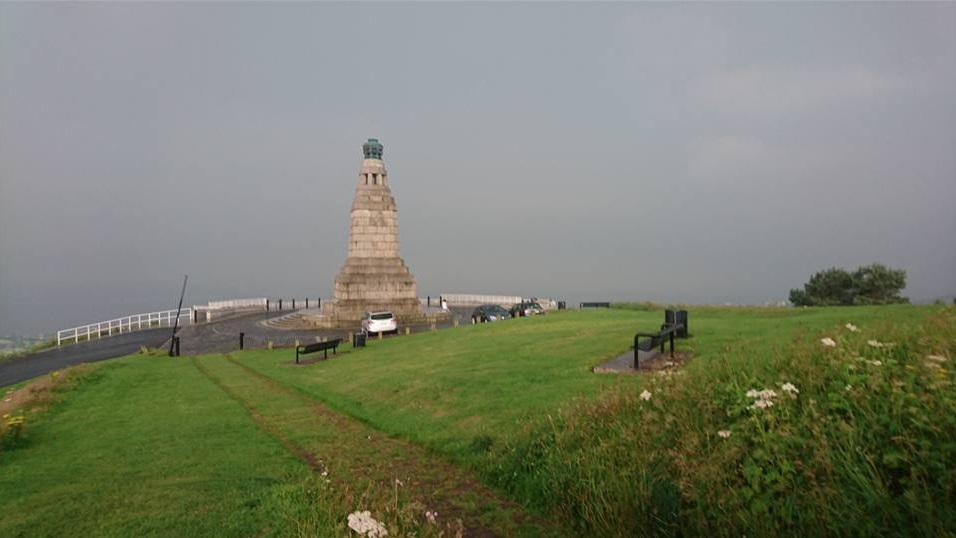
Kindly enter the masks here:
<path id="1" fill-rule="evenodd" d="M 47 372 L 84 362 L 102 361 L 136 353 L 141 346 L 160 347 L 169 340 L 172 329 L 149 329 L 101 340 L 80 342 L 33 353 L 0 364 L 0 387 L 26 381 Z"/>

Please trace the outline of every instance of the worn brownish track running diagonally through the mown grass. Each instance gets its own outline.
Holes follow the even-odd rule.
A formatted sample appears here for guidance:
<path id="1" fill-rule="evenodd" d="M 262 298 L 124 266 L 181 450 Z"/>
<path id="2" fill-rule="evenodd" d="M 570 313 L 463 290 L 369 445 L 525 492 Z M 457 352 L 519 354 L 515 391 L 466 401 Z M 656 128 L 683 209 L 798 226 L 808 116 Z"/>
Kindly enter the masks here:
<path id="1" fill-rule="evenodd" d="M 196 367 L 260 427 L 337 487 L 387 503 L 397 487 L 417 504 L 460 520 L 464 536 L 551 536 L 556 529 L 480 485 L 471 473 L 424 449 L 336 413 L 280 382 L 226 357 L 193 359 Z M 396 480 L 401 481 L 400 485 Z M 346 511 L 358 506 L 344 507 Z"/>

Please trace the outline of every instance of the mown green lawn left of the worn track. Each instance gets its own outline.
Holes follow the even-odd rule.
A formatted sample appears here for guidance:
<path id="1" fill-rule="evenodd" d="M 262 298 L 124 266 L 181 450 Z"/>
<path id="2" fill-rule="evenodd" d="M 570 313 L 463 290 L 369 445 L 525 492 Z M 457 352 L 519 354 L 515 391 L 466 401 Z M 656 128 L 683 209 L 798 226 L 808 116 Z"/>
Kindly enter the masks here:
<path id="1" fill-rule="evenodd" d="M 28 420 L 0 453 L 0 535 L 255 535 L 301 515 L 285 498 L 308 468 L 188 362 L 110 361 Z"/>

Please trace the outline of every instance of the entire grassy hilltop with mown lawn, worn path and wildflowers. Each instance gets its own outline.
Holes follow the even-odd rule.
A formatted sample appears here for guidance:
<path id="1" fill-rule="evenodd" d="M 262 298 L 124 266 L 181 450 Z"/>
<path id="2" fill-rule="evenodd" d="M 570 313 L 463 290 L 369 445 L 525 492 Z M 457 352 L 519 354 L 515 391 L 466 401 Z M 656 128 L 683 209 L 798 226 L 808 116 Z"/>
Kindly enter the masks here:
<path id="1" fill-rule="evenodd" d="M 634 305 L 51 378 L 4 411 L 0 535 L 954 532 L 952 308 L 689 310 L 656 374 L 590 371 Z"/>

